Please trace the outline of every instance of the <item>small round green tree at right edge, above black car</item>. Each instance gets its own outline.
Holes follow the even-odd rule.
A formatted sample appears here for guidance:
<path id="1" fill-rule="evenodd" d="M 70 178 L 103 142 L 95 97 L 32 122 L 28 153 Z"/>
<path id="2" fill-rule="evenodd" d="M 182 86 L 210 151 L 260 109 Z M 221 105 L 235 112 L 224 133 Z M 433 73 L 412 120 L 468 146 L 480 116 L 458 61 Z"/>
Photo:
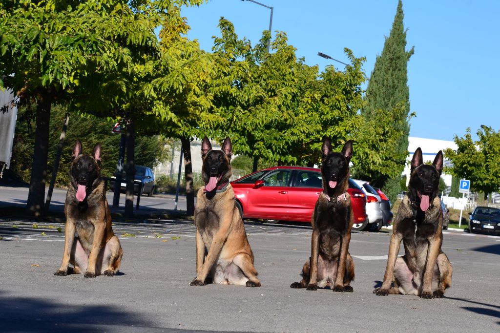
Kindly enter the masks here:
<path id="1" fill-rule="evenodd" d="M 444 151 L 446 158 L 453 162 L 453 167 L 446 171 L 457 180 L 470 180 L 472 190 L 483 192 L 486 199 L 488 193 L 500 189 L 500 133 L 487 126 L 476 133 L 476 141 L 472 140 L 470 128 L 463 137 L 455 135 L 457 149 Z"/>

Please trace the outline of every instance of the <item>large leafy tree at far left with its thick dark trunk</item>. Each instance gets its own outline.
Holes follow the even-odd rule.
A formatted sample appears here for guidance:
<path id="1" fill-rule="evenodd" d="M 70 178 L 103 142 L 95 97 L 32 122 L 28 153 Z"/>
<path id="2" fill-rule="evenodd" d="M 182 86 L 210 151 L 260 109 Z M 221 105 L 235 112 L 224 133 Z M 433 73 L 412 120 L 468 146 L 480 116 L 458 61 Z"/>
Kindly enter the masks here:
<path id="1" fill-rule="evenodd" d="M 200 3 L 177 0 L 176 3 Z M 126 75 L 158 53 L 154 28 L 173 1 L 35 1 L 0 3 L 0 77 L 36 105 L 27 210 L 43 215 L 50 108 L 70 101 L 105 116 L 135 112 L 137 84 Z M 128 78 L 128 80 L 127 80 Z M 149 92 L 143 85 L 140 92 Z M 118 93 L 111 93 L 118 92 Z M 90 98 L 89 98 L 90 96 Z M 100 103 L 105 100 L 106 103 Z M 115 108 L 111 105 L 116 105 Z M 128 114 L 130 116 L 130 114 Z M 133 122 L 132 122 L 133 124 Z M 132 127 L 133 128 L 133 127 Z M 133 131 L 132 131 L 133 133 Z"/>

